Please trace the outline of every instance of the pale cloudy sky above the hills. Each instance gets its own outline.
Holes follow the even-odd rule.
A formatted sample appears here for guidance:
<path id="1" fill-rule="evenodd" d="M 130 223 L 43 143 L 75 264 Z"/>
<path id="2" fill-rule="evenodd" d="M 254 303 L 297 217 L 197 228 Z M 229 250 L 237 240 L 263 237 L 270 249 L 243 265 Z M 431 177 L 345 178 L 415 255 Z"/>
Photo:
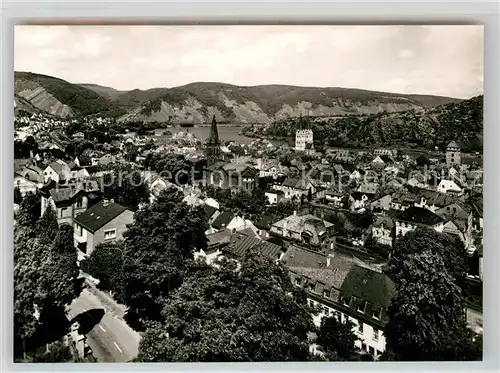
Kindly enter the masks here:
<path id="1" fill-rule="evenodd" d="M 118 90 L 289 84 L 470 98 L 482 26 L 16 26 L 14 68 Z"/>

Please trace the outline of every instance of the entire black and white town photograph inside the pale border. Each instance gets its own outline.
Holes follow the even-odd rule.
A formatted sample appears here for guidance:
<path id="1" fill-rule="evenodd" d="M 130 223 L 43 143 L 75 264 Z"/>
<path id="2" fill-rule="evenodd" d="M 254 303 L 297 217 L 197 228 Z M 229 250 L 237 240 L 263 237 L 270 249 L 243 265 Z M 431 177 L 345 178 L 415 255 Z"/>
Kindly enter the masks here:
<path id="1" fill-rule="evenodd" d="M 483 68 L 481 25 L 16 25 L 14 362 L 482 361 Z"/>

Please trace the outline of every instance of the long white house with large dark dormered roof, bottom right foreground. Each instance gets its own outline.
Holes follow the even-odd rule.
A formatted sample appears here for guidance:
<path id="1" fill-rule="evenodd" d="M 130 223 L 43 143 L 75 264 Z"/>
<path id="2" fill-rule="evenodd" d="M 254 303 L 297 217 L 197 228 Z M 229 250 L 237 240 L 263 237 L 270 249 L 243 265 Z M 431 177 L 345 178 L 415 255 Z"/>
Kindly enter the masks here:
<path id="1" fill-rule="evenodd" d="M 383 330 L 396 293 L 387 275 L 340 253 L 322 254 L 294 246 L 281 262 L 288 267 L 292 284 L 303 288 L 308 304 L 319 311 L 313 316 L 316 326 L 327 316 L 342 323 L 351 321 L 358 348 L 375 359 L 385 351 Z"/>

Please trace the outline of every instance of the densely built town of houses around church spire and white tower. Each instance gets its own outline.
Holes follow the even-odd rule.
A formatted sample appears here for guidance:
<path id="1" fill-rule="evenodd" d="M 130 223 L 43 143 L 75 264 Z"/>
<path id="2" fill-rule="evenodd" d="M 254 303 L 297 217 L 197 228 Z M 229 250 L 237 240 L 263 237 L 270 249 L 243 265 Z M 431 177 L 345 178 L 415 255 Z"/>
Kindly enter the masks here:
<path id="1" fill-rule="evenodd" d="M 385 270 L 398 255 L 398 240 L 414 231 L 411 240 L 442 240 L 463 251 L 464 312 L 468 327 L 482 334 L 482 158 L 463 154 L 456 141 L 418 156 L 392 148 L 319 152 L 308 118 L 297 121 L 295 146 L 283 154 L 266 139 L 245 146 L 224 141 L 215 116 L 207 139 L 189 129 L 166 136 L 117 133 L 105 118 L 20 116 L 16 224 L 54 219 L 69 227 L 89 298 L 80 296 L 70 313 L 83 311 L 85 302 L 104 302 L 123 316 L 124 306 L 110 294 L 120 291 L 127 231 L 155 224 L 137 219 L 167 201 L 197 208 L 206 243 L 192 248 L 194 258 L 240 263 L 257 252 L 281 262 L 291 283 L 304 290 L 314 327 L 331 316 L 352 326 L 353 346 L 342 358 L 358 351 L 375 360 L 386 349 L 384 328 L 396 292 Z M 139 334 L 124 321 L 115 324 L 93 333 L 123 329 L 115 333 L 125 345 L 75 337 L 84 344 L 81 357 L 135 358 L 138 342 L 125 339 L 138 341 Z M 310 350 L 328 356 L 319 342 L 311 339 Z"/>

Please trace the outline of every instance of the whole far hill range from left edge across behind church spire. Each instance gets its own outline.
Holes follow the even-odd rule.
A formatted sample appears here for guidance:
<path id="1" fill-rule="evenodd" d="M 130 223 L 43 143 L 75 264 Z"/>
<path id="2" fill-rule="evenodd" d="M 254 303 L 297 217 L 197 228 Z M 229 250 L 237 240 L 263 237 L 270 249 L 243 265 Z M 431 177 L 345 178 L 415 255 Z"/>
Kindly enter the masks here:
<path id="1" fill-rule="evenodd" d="M 57 115 L 99 114 L 119 121 L 262 123 L 300 114 L 336 117 L 422 110 L 460 100 L 400 95 L 351 88 L 286 85 L 240 87 L 224 83 L 191 83 L 174 88 L 118 91 L 95 84 L 72 84 L 34 73 L 15 73 L 15 92 L 34 107 Z"/>

